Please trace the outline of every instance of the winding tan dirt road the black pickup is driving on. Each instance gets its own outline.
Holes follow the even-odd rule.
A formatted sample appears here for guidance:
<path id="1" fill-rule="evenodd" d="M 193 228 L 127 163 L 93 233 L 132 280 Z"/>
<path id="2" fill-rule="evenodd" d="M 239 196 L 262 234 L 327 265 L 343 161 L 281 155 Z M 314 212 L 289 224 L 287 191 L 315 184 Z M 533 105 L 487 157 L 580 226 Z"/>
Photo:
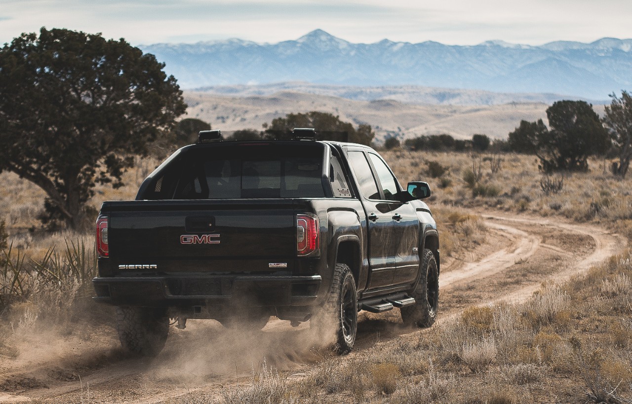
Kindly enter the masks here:
<path id="1" fill-rule="evenodd" d="M 471 305 L 523 300 L 542 282 L 561 282 L 620 253 L 624 237 L 559 218 L 482 213 L 484 243 L 460 259 L 442 259 L 440 318 Z M 360 316 L 356 351 L 432 332 L 405 328 L 399 311 Z M 70 335 L 25 335 L 16 357 L 0 354 L 0 402 L 163 403 L 192 391 L 216 393 L 245 383 L 252 368 L 267 365 L 301 372 L 323 352 L 307 324 L 291 328 L 271 320 L 261 333 L 245 335 L 216 321 L 172 328 L 154 360 L 125 357 L 106 326 Z M 28 347 L 24 348 L 24 347 Z"/>

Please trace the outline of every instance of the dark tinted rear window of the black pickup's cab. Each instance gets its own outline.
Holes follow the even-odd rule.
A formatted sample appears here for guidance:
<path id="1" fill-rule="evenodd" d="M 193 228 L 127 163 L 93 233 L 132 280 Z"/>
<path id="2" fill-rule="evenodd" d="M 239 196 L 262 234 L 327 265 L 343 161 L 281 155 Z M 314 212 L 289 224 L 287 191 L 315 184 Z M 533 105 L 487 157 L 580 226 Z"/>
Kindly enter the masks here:
<path id="1" fill-rule="evenodd" d="M 323 148 L 313 146 L 189 150 L 143 199 L 322 198 Z"/>

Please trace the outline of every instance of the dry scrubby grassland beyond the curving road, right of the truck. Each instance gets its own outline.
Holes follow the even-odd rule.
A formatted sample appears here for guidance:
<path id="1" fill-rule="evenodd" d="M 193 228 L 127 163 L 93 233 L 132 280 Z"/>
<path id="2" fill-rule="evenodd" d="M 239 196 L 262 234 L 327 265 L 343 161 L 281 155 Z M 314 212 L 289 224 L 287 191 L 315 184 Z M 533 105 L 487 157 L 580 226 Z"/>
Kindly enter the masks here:
<path id="1" fill-rule="evenodd" d="M 589 160 L 585 173 L 560 173 L 542 177 L 537 158 L 532 155 L 507 153 L 495 170 L 484 163 L 497 155 L 476 155 L 441 151 L 383 151 L 399 181 L 427 181 L 433 191 L 432 205 L 456 208 L 487 206 L 490 208 L 559 215 L 585 222 L 613 223 L 618 232 L 632 236 L 632 176 L 614 177 L 610 162 Z M 436 176 L 441 166 L 445 170 Z M 480 179 L 477 179 L 480 171 Z M 561 181 L 561 188 L 554 186 Z M 541 182 L 545 182 L 543 189 Z"/>

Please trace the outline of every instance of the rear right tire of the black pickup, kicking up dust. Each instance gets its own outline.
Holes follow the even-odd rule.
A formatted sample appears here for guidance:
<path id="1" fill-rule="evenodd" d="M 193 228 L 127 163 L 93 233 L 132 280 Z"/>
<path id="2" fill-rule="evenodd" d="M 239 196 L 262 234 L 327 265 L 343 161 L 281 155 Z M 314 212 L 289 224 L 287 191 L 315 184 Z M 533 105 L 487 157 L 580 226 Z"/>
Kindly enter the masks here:
<path id="1" fill-rule="evenodd" d="M 346 264 L 336 264 L 329 296 L 323 309 L 310 319 L 310 327 L 317 331 L 333 328 L 336 353 L 351 352 L 358 330 L 358 294 L 353 274 Z"/>

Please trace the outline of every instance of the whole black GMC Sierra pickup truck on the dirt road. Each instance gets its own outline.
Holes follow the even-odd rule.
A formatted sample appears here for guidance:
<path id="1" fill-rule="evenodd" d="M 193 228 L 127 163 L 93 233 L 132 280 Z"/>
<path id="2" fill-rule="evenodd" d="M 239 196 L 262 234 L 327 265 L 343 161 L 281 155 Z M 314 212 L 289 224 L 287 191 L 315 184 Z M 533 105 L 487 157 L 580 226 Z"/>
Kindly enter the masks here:
<path id="1" fill-rule="evenodd" d="M 313 140 L 221 141 L 176 151 L 136 200 L 106 201 L 97 219 L 95 300 L 117 306 L 123 348 L 157 354 L 169 319 L 261 329 L 270 316 L 355 342 L 358 311 L 399 307 L 432 325 L 439 234 L 425 182 L 404 189 L 368 146 Z M 335 339 L 334 339 L 335 338 Z"/>

